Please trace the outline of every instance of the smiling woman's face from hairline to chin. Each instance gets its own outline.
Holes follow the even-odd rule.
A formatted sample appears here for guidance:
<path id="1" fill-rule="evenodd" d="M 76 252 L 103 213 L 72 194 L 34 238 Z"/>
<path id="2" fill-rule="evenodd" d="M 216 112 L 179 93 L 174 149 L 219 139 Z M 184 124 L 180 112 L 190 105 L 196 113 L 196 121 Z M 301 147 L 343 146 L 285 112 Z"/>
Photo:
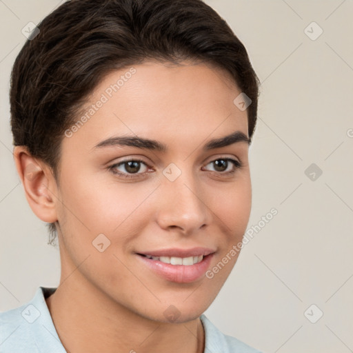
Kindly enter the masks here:
<path id="1" fill-rule="evenodd" d="M 239 94 L 204 63 L 145 62 L 101 81 L 62 143 L 55 209 L 66 286 L 156 321 L 208 308 L 250 216 Z M 236 132 L 243 139 L 217 145 Z"/>

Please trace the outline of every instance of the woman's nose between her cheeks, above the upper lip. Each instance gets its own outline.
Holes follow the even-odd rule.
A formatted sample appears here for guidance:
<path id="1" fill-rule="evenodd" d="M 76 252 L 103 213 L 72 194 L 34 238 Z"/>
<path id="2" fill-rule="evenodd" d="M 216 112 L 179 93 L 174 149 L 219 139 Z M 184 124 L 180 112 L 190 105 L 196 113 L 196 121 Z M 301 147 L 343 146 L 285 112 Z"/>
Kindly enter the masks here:
<path id="1" fill-rule="evenodd" d="M 191 172 L 183 172 L 174 181 L 163 177 L 157 202 L 157 223 L 164 230 L 177 228 L 188 235 L 210 224 L 212 219 L 201 185 Z"/>

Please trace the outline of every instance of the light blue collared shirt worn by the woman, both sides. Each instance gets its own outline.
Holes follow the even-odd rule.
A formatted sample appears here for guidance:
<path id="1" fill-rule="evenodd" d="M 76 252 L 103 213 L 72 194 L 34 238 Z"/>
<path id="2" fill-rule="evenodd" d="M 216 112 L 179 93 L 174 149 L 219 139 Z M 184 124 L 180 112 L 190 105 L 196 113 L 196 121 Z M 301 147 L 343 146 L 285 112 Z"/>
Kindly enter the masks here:
<path id="1" fill-rule="evenodd" d="M 55 290 L 39 287 L 30 302 L 0 313 L 0 353 L 66 353 L 45 300 Z M 204 314 L 200 319 L 205 330 L 204 353 L 260 353 L 222 334 Z"/>

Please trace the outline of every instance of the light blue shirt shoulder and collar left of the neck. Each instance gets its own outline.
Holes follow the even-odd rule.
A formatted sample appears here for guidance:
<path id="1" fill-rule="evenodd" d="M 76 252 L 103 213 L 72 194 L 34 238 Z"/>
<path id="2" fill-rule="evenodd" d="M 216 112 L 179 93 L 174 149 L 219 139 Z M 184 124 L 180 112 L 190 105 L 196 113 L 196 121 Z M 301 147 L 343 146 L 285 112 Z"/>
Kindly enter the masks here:
<path id="1" fill-rule="evenodd" d="M 28 303 L 0 312 L 1 353 L 65 352 L 45 300 L 54 290 L 39 287 Z"/>

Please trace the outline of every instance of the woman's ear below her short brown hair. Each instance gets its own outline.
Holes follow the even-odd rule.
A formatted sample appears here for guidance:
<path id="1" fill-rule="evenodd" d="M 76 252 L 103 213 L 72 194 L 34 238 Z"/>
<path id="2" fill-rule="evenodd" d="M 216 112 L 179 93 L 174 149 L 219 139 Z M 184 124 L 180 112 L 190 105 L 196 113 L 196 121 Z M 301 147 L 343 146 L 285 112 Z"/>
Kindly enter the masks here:
<path id="1" fill-rule="evenodd" d="M 23 184 L 26 199 L 34 214 L 47 223 L 57 221 L 57 183 L 51 168 L 34 159 L 26 146 L 14 147 L 14 162 Z"/>

